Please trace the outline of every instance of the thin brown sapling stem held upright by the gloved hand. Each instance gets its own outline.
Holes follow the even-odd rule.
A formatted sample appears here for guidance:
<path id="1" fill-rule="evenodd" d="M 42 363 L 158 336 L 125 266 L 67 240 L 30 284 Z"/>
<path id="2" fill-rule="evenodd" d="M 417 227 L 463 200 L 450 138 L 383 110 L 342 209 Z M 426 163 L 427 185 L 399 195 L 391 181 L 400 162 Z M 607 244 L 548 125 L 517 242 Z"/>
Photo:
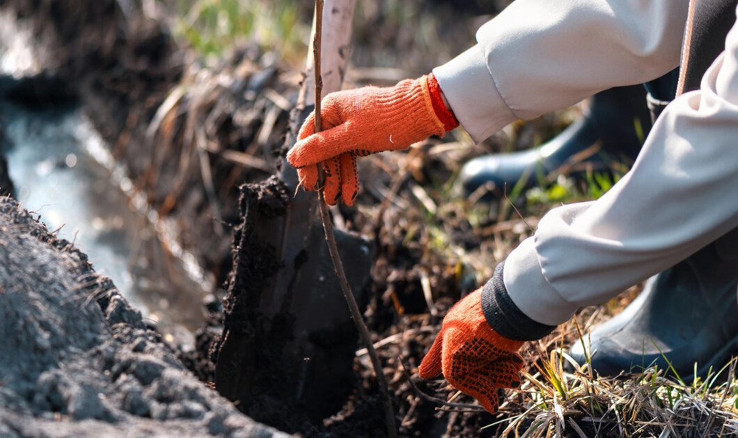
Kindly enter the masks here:
<path id="1" fill-rule="evenodd" d="M 315 72 L 315 132 L 323 130 L 323 120 L 320 114 L 320 100 L 321 94 L 323 93 L 323 78 L 320 76 L 320 41 L 321 35 L 323 34 L 323 0 L 315 0 L 315 36 L 313 40 L 313 58 L 314 58 L 314 72 Z M 318 165 L 320 172 L 320 187 L 323 187 L 323 169 Z M 384 404 L 384 421 L 387 423 L 387 436 L 390 438 L 397 437 L 397 429 L 395 427 L 395 413 L 392 408 L 392 400 L 390 399 L 390 392 L 387 390 L 387 380 L 384 379 L 384 370 L 382 369 L 382 363 L 379 362 L 379 355 L 376 354 L 371 337 L 369 335 L 369 329 L 364 322 L 362 312 L 359 310 L 359 305 L 356 304 L 356 298 L 354 298 L 354 292 L 351 291 L 351 284 L 348 284 L 348 279 L 343 270 L 343 262 L 341 256 L 338 253 L 338 246 L 336 244 L 336 237 L 333 233 L 333 223 L 331 222 L 330 213 L 328 213 L 328 204 L 325 203 L 325 196 L 323 190 L 318 191 L 318 205 L 320 205 L 320 220 L 323 222 L 323 230 L 325 231 L 325 242 L 328 243 L 328 252 L 331 253 L 331 260 L 333 260 L 333 267 L 336 271 L 338 282 L 343 291 L 343 295 L 346 298 L 348 309 L 351 310 L 351 317 L 354 319 L 356 329 L 359 329 L 359 335 L 362 337 L 362 341 L 367 346 L 369 357 L 376 375 L 376 381 L 379 384 L 379 391 L 382 392 L 383 404 Z"/>

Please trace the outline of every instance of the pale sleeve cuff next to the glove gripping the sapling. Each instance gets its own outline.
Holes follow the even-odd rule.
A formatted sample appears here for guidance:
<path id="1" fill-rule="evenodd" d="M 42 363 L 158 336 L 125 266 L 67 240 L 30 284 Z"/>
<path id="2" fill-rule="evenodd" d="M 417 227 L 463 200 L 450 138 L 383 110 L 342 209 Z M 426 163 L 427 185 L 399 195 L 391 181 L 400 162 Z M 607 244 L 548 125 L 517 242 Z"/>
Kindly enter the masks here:
<path id="1" fill-rule="evenodd" d="M 466 50 L 433 75 L 463 129 L 479 143 L 517 120 L 497 92 L 479 45 Z"/>

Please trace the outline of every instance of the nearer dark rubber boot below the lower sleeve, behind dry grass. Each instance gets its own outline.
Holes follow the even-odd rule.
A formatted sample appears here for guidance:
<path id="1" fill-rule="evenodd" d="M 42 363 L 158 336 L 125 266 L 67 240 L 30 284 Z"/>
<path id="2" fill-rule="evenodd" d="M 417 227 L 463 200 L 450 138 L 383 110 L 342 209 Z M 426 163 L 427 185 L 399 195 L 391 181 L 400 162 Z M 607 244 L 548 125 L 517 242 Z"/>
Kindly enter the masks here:
<path id="1" fill-rule="evenodd" d="M 722 368 L 738 346 L 738 230 L 658 274 L 623 312 L 589 337 L 592 367 L 601 376 L 638 372 L 666 360 L 685 381 Z M 587 335 L 584 335 L 587 343 Z M 576 342 L 570 355 L 586 363 Z"/>

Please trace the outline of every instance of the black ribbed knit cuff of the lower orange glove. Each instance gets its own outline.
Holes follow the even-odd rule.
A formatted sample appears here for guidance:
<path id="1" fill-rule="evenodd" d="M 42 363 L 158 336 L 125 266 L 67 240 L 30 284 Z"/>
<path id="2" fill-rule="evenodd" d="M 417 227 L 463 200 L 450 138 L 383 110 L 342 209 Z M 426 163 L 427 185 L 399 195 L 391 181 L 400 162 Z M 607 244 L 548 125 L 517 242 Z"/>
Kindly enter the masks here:
<path id="1" fill-rule="evenodd" d="M 520 311 L 508 295 L 503 281 L 505 262 L 497 265 L 494 276 L 482 289 L 482 312 L 495 332 L 514 341 L 535 341 L 548 335 L 556 326 L 533 321 Z"/>

